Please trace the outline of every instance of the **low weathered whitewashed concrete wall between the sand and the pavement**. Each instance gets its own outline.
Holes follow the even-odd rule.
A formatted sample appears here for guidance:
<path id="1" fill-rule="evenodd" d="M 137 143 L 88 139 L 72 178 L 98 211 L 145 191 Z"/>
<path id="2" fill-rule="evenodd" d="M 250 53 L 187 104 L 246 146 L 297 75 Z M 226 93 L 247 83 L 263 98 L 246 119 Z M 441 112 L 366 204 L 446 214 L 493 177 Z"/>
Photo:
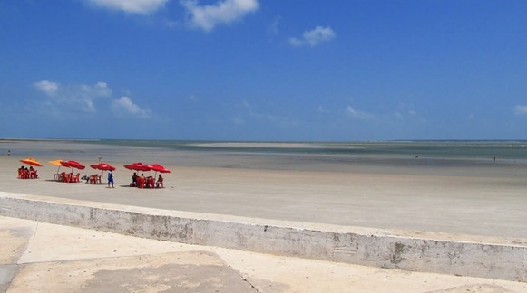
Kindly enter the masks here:
<path id="1" fill-rule="evenodd" d="M 385 230 L 280 222 L 0 193 L 0 215 L 106 232 L 317 260 L 527 281 L 527 246 L 390 235 Z"/>

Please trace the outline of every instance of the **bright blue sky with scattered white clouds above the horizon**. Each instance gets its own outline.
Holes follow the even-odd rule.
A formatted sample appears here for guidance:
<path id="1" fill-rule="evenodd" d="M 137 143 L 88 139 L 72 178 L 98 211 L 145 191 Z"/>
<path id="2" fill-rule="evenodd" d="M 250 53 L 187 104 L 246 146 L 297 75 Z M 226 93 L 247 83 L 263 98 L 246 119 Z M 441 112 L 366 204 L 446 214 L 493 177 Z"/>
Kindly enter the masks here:
<path id="1" fill-rule="evenodd" d="M 527 1 L 0 0 L 0 137 L 527 139 Z"/>

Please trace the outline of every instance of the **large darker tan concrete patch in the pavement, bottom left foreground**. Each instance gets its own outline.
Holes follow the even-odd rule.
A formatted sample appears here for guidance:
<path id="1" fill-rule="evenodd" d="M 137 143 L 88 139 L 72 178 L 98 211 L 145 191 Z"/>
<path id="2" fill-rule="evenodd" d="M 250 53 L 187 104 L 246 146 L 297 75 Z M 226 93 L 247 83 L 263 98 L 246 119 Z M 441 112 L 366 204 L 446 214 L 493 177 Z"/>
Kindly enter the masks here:
<path id="1" fill-rule="evenodd" d="M 49 281 L 61 279 L 62 282 Z M 257 292 L 215 253 L 190 251 L 121 258 L 33 263 L 13 292 Z"/>

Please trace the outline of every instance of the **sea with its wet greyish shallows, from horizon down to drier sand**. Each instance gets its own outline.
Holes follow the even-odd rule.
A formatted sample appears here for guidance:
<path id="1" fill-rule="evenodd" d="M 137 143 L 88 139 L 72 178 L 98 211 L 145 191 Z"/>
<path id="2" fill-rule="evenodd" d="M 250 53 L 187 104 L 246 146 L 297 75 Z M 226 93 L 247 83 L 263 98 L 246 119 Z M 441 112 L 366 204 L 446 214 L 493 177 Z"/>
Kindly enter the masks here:
<path id="1" fill-rule="evenodd" d="M 527 141 L 226 142 L 0 139 L 14 157 L 85 165 L 172 166 L 407 175 L 527 176 Z"/>

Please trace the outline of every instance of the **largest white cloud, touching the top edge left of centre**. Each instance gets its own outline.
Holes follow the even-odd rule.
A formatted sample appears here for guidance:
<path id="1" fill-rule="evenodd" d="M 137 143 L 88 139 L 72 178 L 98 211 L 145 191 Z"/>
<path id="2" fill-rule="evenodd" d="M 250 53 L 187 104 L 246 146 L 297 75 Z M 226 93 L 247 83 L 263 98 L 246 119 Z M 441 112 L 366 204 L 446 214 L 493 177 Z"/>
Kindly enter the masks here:
<path id="1" fill-rule="evenodd" d="M 218 24 L 230 24 L 259 8 L 258 0 L 224 0 L 216 5 L 198 5 L 197 0 L 181 0 L 190 14 L 190 25 L 204 31 Z"/>

